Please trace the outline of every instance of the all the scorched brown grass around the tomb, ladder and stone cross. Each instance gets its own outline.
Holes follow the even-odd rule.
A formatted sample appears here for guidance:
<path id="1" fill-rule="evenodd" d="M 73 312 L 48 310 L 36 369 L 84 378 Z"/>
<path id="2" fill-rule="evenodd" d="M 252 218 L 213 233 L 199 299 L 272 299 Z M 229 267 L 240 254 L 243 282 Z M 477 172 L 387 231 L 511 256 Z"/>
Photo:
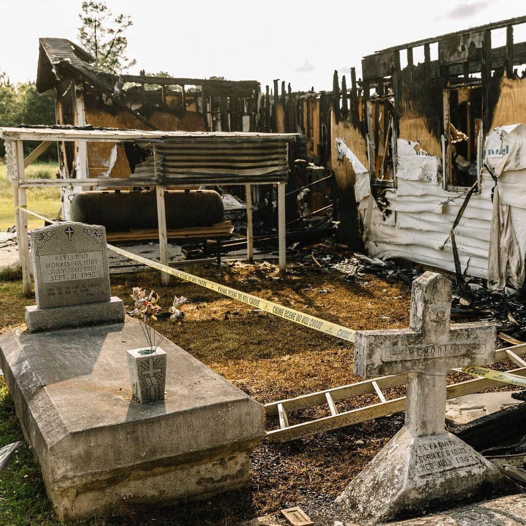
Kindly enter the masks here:
<path id="1" fill-rule="evenodd" d="M 337 272 L 297 268 L 285 280 L 258 269 L 189 268 L 188 272 L 309 312 L 353 329 L 399 328 L 409 323 L 409 291 L 401 281 L 366 275 L 347 282 Z M 171 278 L 160 286 L 159 274 L 112 276 L 112 294 L 131 304 L 131 287 L 155 289 L 160 305 L 169 307 L 175 295 L 188 298 L 182 326 L 158 322 L 156 328 L 261 403 L 345 385 L 360 378 L 352 373 L 353 348 L 332 338 L 213 291 Z M 16 309 L 0 309 L 2 325 L 23 323 L 19 281 L 9 284 Z M 466 375 L 450 376 L 450 381 Z M 387 398 L 404 395 L 404 388 L 387 390 Z M 375 403 L 373 395 L 337 402 L 340 410 Z M 291 423 L 326 416 L 328 408 L 292 413 Z M 276 426 L 275 421 L 267 422 Z M 251 454 L 251 485 L 184 508 L 152 511 L 123 509 L 108 523 L 236 524 L 239 519 L 276 512 L 291 505 L 321 500 L 331 502 L 400 429 L 403 414 L 363 422 L 286 444 L 262 442 Z M 99 524 L 104 524 L 100 522 Z"/>

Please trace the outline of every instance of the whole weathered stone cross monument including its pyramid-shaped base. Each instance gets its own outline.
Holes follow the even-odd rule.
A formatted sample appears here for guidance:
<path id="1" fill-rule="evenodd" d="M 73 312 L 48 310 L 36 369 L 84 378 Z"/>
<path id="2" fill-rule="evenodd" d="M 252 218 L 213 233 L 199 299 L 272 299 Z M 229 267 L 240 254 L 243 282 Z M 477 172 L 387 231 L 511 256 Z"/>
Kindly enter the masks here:
<path id="1" fill-rule="evenodd" d="M 448 370 L 494 361 L 491 323 L 450 326 L 451 282 L 433 272 L 413 281 L 409 329 L 356 333 L 355 373 L 407 373 L 406 424 L 338 497 L 358 520 L 391 520 L 458 502 L 509 482 L 446 431 Z"/>

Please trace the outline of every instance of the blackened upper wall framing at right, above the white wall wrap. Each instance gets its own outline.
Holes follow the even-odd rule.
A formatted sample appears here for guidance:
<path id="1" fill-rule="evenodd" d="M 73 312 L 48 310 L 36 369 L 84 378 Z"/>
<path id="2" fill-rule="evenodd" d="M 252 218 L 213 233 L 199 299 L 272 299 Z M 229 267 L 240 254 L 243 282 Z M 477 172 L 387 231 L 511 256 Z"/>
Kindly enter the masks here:
<path id="1" fill-rule="evenodd" d="M 376 90 L 376 96 L 392 92 L 395 99 L 393 124 L 397 137 L 419 140 L 424 149 L 439 155 L 440 137 L 448 135 L 448 130 L 443 128 L 443 112 L 446 111 L 443 90 L 448 86 L 469 85 L 478 81 L 483 88 L 482 129 L 487 134 L 500 97 L 503 75 L 508 79 L 517 78 L 513 66 L 526 63 L 526 43 L 513 43 L 513 26 L 524 22 L 526 16 L 507 19 L 393 46 L 368 55 L 362 60 L 363 81 L 360 87 L 363 100 L 370 97 L 371 87 Z M 504 27 L 506 45 L 492 48 L 491 31 Z M 431 60 L 432 44 L 438 46 L 438 58 L 434 60 Z M 424 61 L 414 64 L 413 50 L 419 46 L 423 46 Z M 407 66 L 401 69 L 400 53 L 403 52 L 407 53 Z M 472 78 L 472 74 L 478 74 L 480 79 Z M 415 123 L 417 126 L 414 126 Z M 370 125 L 369 122 L 368 128 Z M 423 131 L 426 129 L 429 135 Z M 369 139 L 376 143 L 378 137 L 375 130 L 368 129 L 368 133 Z"/>

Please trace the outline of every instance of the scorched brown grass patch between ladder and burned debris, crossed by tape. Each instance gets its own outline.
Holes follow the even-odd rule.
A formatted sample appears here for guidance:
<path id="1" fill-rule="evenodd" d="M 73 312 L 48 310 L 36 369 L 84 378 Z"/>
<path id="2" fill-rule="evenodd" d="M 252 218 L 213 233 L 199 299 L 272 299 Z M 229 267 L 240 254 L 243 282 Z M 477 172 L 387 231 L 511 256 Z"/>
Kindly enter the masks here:
<path id="1" fill-rule="evenodd" d="M 241 282 L 230 269 L 195 272 L 354 329 L 398 328 L 409 322 L 407 287 L 373 276 L 348 284 L 339 274 L 303 269 L 283 281 L 262 276 Z M 259 402 L 359 380 L 352 373 L 350 343 L 173 279 L 173 285 L 163 288 L 155 272 L 122 276 L 112 280 L 113 294 L 130 304 L 133 282 L 155 288 L 166 307 L 175 294 L 186 296 L 190 303 L 184 325 L 158 322 L 158 330 Z"/>

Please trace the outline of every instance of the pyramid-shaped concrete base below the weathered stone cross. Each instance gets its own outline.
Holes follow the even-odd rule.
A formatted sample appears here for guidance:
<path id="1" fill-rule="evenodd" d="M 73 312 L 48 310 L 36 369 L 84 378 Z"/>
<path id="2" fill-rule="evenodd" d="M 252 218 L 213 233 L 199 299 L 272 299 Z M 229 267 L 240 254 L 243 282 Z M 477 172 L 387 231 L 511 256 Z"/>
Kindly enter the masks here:
<path id="1" fill-rule="evenodd" d="M 517 487 L 451 433 L 413 437 L 404 426 L 338 497 L 350 519 L 381 522 Z"/>

